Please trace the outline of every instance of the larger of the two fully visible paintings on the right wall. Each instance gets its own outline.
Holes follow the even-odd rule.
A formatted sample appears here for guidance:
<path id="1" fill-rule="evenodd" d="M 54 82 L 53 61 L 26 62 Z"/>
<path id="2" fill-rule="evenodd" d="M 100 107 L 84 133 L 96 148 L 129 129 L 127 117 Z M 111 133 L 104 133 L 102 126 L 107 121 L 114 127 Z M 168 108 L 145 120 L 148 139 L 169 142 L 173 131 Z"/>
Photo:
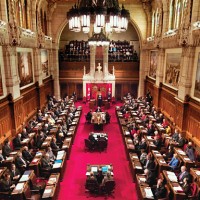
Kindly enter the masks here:
<path id="1" fill-rule="evenodd" d="M 180 76 L 181 53 L 166 54 L 165 83 L 178 88 Z"/>

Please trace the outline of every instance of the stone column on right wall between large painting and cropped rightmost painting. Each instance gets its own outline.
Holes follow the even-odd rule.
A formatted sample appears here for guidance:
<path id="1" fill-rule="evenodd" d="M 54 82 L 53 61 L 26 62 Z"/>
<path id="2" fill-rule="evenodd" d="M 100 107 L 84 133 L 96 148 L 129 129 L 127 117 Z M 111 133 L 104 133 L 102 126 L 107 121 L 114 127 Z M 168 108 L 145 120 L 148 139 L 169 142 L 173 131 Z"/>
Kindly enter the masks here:
<path id="1" fill-rule="evenodd" d="M 185 97 L 191 92 L 194 56 L 194 47 L 182 48 L 181 70 L 178 87 L 178 98 L 182 101 L 184 101 Z"/>

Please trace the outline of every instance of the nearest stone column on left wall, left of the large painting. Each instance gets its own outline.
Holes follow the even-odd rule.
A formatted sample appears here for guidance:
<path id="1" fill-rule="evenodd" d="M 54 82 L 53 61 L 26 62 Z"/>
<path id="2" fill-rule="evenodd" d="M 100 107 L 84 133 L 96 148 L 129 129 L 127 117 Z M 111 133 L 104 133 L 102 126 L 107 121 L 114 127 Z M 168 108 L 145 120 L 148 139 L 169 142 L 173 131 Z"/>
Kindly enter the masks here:
<path id="1" fill-rule="evenodd" d="M 19 74 L 17 65 L 16 47 L 3 46 L 3 58 L 5 67 L 5 79 L 8 94 L 11 93 L 13 100 L 20 97 Z"/>

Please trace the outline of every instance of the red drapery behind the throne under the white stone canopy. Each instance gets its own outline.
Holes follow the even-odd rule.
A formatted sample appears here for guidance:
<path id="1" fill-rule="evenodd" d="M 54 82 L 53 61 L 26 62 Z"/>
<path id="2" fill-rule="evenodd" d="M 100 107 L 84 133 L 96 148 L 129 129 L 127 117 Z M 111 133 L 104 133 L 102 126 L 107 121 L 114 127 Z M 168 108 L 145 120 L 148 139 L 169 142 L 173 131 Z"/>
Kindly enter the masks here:
<path id="1" fill-rule="evenodd" d="M 112 95 L 112 83 L 86 83 L 87 100 L 97 99 L 97 95 L 101 93 L 103 99 L 107 99 L 108 92 Z"/>

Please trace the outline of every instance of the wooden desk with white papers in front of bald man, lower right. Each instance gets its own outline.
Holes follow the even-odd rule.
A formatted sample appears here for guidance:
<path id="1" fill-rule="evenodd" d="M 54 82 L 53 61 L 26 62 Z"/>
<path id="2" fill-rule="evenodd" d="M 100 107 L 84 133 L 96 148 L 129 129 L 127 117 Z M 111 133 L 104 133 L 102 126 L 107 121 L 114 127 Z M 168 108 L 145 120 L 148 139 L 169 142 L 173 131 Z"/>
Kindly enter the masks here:
<path id="1" fill-rule="evenodd" d="M 164 175 L 167 185 L 169 186 L 169 188 L 173 194 L 173 200 L 186 199 L 186 194 L 183 192 L 180 184 L 178 183 L 175 173 L 164 170 L 163 175 Z M 171 177 L 173 177 L 173 178 L 171 178 Z M 176 188 L 179 188 L 179 189 L 177 190 Z"/>

